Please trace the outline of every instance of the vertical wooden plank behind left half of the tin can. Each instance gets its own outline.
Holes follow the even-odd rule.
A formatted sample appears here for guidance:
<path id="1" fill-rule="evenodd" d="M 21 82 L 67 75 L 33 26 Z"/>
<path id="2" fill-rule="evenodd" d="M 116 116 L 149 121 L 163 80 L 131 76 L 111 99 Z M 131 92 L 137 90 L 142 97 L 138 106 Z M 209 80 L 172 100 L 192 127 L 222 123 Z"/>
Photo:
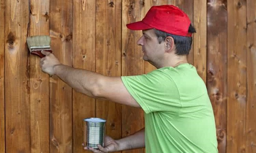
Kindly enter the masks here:
<path id="1" fill-rule="evenodd" d="M 95 71 L 95 0 L 73 0 L 73 57 L 76 68 Z M 95 99 L 73 91 L 73 153 L 84 153 L 83 118 L 95 117 Z M 87 151 L 89 153 L 89 151 Z"/>

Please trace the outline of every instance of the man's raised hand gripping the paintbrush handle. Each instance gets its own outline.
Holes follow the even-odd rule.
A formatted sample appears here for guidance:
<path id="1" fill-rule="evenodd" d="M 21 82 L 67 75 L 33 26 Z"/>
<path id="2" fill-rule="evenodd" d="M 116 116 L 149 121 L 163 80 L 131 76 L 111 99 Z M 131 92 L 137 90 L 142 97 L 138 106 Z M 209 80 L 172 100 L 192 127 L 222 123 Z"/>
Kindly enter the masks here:
<path id="1" fill-rule="evenodd" d="M 52 53 L 48 51 L 41 51 L 41 53 L 45 55 L 40 61 L 42 71 L 49 75 L 55 75 L 54 66 L 60 65 L 61 63 Z"/>

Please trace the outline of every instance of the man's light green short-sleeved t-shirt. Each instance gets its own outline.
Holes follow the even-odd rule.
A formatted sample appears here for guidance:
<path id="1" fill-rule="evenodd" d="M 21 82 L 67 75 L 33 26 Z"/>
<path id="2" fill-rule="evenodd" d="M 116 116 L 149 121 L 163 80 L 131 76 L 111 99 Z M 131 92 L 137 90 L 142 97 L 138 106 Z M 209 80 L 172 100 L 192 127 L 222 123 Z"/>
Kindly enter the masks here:
<path id="1" fill-rule="evenodd" d="M 122 76 L 145 111 L 147 153 L 217 153 L 213 109 L 204 81 L 190 64 Z"/>

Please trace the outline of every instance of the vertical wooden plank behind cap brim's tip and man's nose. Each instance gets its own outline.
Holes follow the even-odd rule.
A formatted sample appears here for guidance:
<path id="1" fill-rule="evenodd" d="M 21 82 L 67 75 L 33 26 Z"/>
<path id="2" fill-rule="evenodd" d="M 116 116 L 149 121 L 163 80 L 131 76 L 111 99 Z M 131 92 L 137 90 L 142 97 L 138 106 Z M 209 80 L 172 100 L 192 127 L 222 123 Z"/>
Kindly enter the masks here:
<path id="1" fill-rule="evenodd" d="M 126 24 L 142 20 L 144 2 L 135 0 L 122 1 L 122 75 L 140 75 L 144 73 L 143 53 L 137 40 L 141 31 L 132 31 Z M 126 137 L 144 127 L 144 114 L 139 108 L 122 106 L 122 137 Z M 123 153 L 143 153 L 143 149 L 123 151 Z"/>

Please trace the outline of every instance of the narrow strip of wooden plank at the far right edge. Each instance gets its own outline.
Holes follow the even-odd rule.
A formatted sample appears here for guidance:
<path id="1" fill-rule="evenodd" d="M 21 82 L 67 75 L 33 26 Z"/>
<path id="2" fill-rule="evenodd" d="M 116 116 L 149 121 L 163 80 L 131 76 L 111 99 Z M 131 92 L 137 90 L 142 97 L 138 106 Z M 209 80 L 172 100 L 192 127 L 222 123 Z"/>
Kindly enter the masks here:
<path id="1" fill-rule="evenodd" d="M 256 152 L 256 1 L 247 0 L 246 153 Z"/>

